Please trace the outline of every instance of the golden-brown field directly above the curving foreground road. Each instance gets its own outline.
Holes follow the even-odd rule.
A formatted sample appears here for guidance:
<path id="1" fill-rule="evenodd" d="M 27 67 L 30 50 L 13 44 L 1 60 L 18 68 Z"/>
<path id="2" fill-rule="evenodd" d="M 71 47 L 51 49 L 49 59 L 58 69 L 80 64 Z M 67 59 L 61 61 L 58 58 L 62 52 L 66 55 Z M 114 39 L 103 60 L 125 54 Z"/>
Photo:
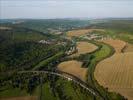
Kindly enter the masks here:
<path id="1" fill-rule="evenodd" d="M 87 68 L 82 68 L 82 62 L 76 60 L 65 61 L 58 65 L 58 69 L 63 72 L 70 73 L 79 79 L 85 81 Z"/>

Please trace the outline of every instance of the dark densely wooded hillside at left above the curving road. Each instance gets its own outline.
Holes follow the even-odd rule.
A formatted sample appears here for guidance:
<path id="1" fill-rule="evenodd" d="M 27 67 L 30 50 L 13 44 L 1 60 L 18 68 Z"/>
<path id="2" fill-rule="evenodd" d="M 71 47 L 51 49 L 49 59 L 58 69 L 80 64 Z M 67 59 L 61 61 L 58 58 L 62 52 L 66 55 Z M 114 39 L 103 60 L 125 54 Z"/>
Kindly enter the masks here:
<path id="1" fill-rule="evenodd" d="M 8 26 L 9 27 L 9 26 Z M 39 43 L 40 40 L 50 44 Z M 0 31 L 0 70 L 32 68 L 40 61 L 65 52 L 68 48 L 57 44 L 63 42 L 52 35 L 45 35 L 31 29 L 11 27 Z"/>

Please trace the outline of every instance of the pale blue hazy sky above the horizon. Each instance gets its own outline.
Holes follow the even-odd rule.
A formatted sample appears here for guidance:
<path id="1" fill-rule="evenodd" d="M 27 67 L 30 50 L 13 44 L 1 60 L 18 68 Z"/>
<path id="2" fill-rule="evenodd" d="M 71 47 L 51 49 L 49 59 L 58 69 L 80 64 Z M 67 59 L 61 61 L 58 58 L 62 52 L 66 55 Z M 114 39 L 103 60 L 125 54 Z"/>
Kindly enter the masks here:
<path id="1" fill-rule="evenodd" d="M 0 0 L 0 19 L 133 17 L 133 0 Z"/>

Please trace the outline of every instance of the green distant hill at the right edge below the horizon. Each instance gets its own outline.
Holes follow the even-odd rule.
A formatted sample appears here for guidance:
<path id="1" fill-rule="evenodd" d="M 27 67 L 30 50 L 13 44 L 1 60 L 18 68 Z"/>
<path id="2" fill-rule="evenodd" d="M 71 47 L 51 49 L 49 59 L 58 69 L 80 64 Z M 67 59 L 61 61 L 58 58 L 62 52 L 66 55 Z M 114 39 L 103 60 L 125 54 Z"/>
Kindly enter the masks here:
<path id="1" fill-rule="evenodd" d="M 100 21 L 100 20 L 98 20 Z M 103 22 L 102 22 L 103 21 Z M 129 32 L 133 34 L 133 19 L 103 19 L 100 23 L 94 23 L 89 26 L 95 28 L 109 29 L 116 32 Z"/>

